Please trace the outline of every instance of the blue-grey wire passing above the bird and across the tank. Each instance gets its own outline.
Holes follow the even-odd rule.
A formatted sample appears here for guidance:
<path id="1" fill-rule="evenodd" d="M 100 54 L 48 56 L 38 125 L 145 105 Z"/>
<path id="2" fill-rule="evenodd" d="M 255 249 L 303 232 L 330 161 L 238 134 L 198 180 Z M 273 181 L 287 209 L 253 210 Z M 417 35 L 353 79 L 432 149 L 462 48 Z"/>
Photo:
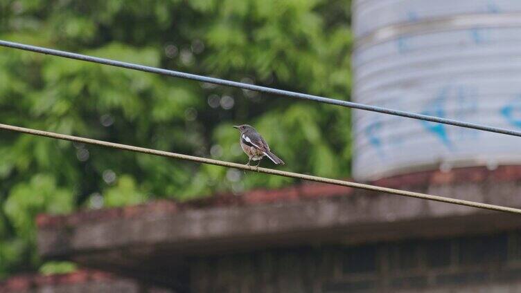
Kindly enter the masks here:
<path id="1" fill-rule="evenodd" d="M 232 81 L 226 80 L 226 79 L 206 77 L 206 76 L 195 75 L 195 74 L 191 74 L 191 73 L 183 73 L 183 72 L 179 72 L 179 71 L 175 71 L 175 70 L 166 70 L 166 69 L 161 69 L 161 68 L 156 68 L 156 67 L 151 67 L 151 66 L 143 66 L 143 65 L 139 65 L 139 64 L 132 64 L 132 63 L 127 63 L 127 62 L 116 61 L 116 60 L 112 60 L 112 59 L 92 57 L 92 56 L 88 56 L 88 55 L 70 53 L 70 52 L 65 52 L 65 51 L 61 51 L 61 50 L 42 48 L 39 46 L 30 46 L 30 45 L 25 45 L 25 44 L 13 43 L 11 41 L 0 40 L 0 46 L 17 48 L 17 49 L 21 49 L 21 50 L 36 52 L 36 53 L 54 55 L 54 56 L 58 56 L 58 57 L 65 57 L 65 58 L 69 58 L 69 59 L 77 59 L 77 60 L 82 60 L 82 61 L 86 61 L 86 62 L 105 64 L 105 65 L 109 65 L 109 66 L 116 66 L 116 67 L 128 68 L 128 69 L 133 69 L 133 70 L 140 70 L 140 71 L 144 71 L 144 72 L 148 72 L 148 73 L 157 73 L 160 75 L 168 75 L 168 76 L 180 77 L 180 78 L 184 78 L 184 79 L 192 79 L 192 80 L 197 80 L 199 82 L 207 82 L 210 84 L 219 84 L 222 86 L 233 86 L 236 88 L 244 88 L 244 89 L 247 89 L 250 91 L 258 91 L 260 93 L 283 95 L 286 97 L 293 97 L 293 98 L 297 98 L 297 99 L 301 99 L 301 100 L 312 100 L 315 102 L 333 104 L 333 105 L 337 105 L 337 106 L 344 106 L 347 108 L 357 108 L 357 109 L 365 110 L 365 111 L 372 111 L 372 112 L 407 117 L 407 118 L 412 118 L 412 119 L 417 119 L 417 120 L 425 120 L 425 121 L 437 122 L 437 123 L 441 123 L 441 124 L 460 126 L 460 127 L 464 127 L 464 128 L 468 128 L 468 129 L 477 129 L 477 130 L 481 130 L 481 131 L 502 133 L 502 134 L 506 134 L 506 135 L 513 135 L 513 136 L 521 137 L 521 131 L 502 129 L 502 128 L 493 127 L 493 126 L 475 124 L 475 123 L 470 123 L 470 122 L 463 122 L 463 121 L 459 121 L 459 120 L 452 120 L 452 119 L 447 119 L 447 118 L 442 118 L 442 117 L 434 117 L 434 116 L 430 116 L 430 115 L 417 114 L 417 113 L 412 113 L 412 112 L 407 112 L 407 111 L 399 111 L 399 110 L 383 108 L 383 107 L 378 107 L 378 106 L 370 106 L 367 104 L 335 100 L 335 99 L 331 99 L 328 97 L 320 97 L 318 95 L 308 95 L 305 93 L 296 93 L 296 92 L 292 92 L 292 91 L 279 90 L 276 88 L 268 88 L 266 86 L 256 86 L 254 84 L 245 84 L 242 82 L 232 82 Z"/>

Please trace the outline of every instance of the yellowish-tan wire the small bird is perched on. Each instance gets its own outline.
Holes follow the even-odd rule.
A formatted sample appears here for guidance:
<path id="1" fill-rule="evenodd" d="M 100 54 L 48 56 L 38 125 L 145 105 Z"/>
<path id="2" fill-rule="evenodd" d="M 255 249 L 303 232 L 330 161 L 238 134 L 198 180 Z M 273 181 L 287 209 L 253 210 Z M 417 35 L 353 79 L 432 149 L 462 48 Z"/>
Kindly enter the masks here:
<path id="1" fill-rule="evenodd" d="M 27 128 L 19 127 L 19 126 L 0 124 L 0 129 L 4 129 L 7 131 L 15 131 L 15 132 L 19 132 L 19 133 L 27 133 L 30 135 L 39 135 L 39 136 L 44 136 L 47 138 L 55 138 L 58 140 L 69 140 L 71 142 L 82 142 L 85 144 L 94 144 L 94 145 L 98 145 L 101 147 L 109 147 L 112 149 L 134 151 L 136 153 L 148 153 L 149 155 L 159 155 L 161 157 L 174 158 L 174 159 L 179 159 L 179 160 L 188 160 L 188 161 L 192 161 L 192 162 L 200 162 L 203 164 L 213 164 L 213 165 L 222 166 L 222 167 L 236 168 L 236 169 L 242 169 L 242 170 L 248 170 L 248 171 L 256 171 L 256 172 L 260 172 L 260 173 L 266 173 L 266 174 L 284 176 L 284 177 L 290 177 L 290 178 L 299 178 L 299 179 L 303 179 L 303 180 L 328 183 L 328 184 L 332 184 L 332 185 L 340 185 L 340 186 L 344 186 L 344 187 L 353 187 L 353 188 L 357 188 L 357 189 L 366 189 L 366 190 L 371 190 L 371 191 L 391 193 L 391 194 L 396 194 L 398 196 L 408 196 L 410 198 L 421 198 L 423 200 L 434 200 L 434 201 L 438 201 L 438 202 L 447 202 L 447 203 L 454 204 L 454 205 L 465 205 L 467 207 L 477 207 L 479 209 L 490 209 L 493 211 L 505 211 L 505 212 L 509 212 L 509 213 L 513 213 L 513 214 L 521 214 L 521 209 L 515 209 L 513 207 L 502 207 L 499 205 L 489 205 L 486 203 L 472 202 L 469 200 L 459 200 L 456 198 L 445 198 L 443 196 L 432 196 L 430 194 L 425 194 L 425 193 L 418 193 L 418 192 L 405 191 L 405 190 L 399 190 L 399 189 L 391 189 L 391 188 L 387 188 L 387 187 L 378 187 L 378 186 L 374 186 L 374 185 L 366 185 L 366 184 L 362 184 L 362 183 L 349 182 L 349 181 L 344 181 L 344 180 L 336 180 L 336 179 L 324 178 L 324 177 L 319 177 L 319 176 L 304 175 L 301 173 L 293 173 L 293 172 L 279 171 L 279 170 L 274 170 L 274 169 L 252 167 L 252 166 L 247 166 L 245 164 L 224 162 L 224 161 L 220 161 L 220 160 L 195 157 L 193 155 L 183 155 L 181 153 L 170 153 L 168 151 L 158 151 L 155 149 L 145 149 L 143 147 L 134 147 L 134 146 L 130 146 L 127 144 L 116 144 L 114 142 L 105 142 L 103 140 L 93 140 L 90 138 L 81 138 L 78 136 L 64 135 L 64 134 L 53 133 L 53 132 L 49 132 L 49 131 L 39 131 L 36 129 L 27 129 Z"/>

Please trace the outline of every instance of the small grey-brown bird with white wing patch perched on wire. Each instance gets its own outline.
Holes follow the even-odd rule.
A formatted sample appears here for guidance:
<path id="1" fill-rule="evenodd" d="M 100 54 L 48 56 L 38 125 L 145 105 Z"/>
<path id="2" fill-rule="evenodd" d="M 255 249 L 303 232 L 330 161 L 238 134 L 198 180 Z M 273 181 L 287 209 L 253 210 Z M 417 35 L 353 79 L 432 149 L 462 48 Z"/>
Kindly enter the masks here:
<path id="1" fill-rule="evenodd" d="M 270 147 L 262 136 L 248 124 L 233 126 L 240 131 L 240 147 L 248 155 L 249 166 L 251 160 L 258 161 L 257 167 L 260 164 L 260 160 L 267 156 L 275 164 L 284 164 L 283 160 L 279 159 L 274 153 L 270 151 Z"/>

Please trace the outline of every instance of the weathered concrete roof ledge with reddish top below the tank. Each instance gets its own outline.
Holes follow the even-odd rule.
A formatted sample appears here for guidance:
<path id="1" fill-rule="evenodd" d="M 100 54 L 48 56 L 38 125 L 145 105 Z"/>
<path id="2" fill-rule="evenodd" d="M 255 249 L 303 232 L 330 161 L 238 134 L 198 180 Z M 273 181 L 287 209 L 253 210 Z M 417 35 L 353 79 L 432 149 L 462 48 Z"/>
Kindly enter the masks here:
<path id="1" fill-rule="evenodd" d="M 521 207 L 521 167 L 458 169 L 380 180 L 379 185 Z M 299 185 L 179 204 L 39 216 L 44 258 L 152 272 L 188 256 L 265 247 L 367 243 L 479 234 L 521 227 L 521 217 L 329 185 Z"/>

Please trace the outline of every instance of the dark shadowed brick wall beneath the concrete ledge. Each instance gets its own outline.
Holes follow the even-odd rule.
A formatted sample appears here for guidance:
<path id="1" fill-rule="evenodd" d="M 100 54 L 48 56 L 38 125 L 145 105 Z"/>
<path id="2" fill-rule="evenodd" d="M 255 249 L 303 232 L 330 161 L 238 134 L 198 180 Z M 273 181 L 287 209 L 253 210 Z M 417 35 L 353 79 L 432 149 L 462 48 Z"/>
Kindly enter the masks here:
<path id="1" fill-rule="evenodd" d="M 293 247 L 191 263 L 192 292 L 521 292 L 521 231 Z"/>

